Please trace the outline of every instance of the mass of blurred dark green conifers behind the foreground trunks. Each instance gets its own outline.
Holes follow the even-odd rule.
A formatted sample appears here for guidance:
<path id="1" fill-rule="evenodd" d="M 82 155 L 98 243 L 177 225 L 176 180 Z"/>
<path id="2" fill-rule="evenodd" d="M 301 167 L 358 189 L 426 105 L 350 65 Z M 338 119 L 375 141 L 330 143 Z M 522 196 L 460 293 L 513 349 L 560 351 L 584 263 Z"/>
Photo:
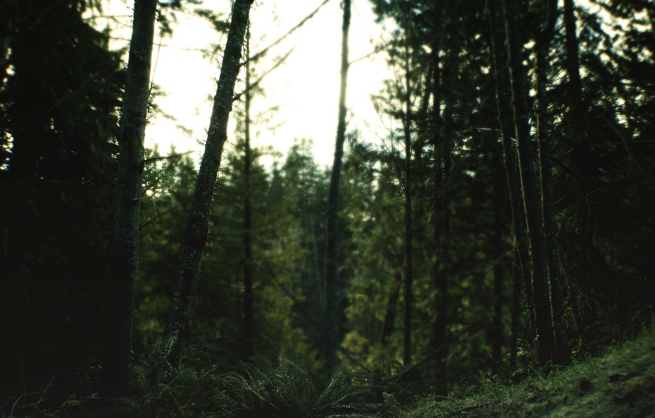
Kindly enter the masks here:
<path id="1" fill-rule="evenodd" d="M 330 303 L 343 313 L 335 315 L 337 369 L 403 373 L 438 390 L 480 370 L 510 375 L 597 352 L 651 320 L 652 4 L 563 1 L 545 45 L 538 34 L 539 50 L 532 28 L 545 22 L 545 1 L 517 5 L 509 31 L 510 1 L 371 3 L 396 26 L 384 45 L 396 77 L 373 98 L 388 134 L 345 135 L 334 231 L 340 292 L 326 287 L 331 170 L 314 161 L 310 139 L 284 156 L 252 147 L 246 169 L 237 95 L 182 364 L 240 367 L 246 196 L 255 364 L 282 356 L 310 370 L 327 366 Z M 100 366 L 126 51 L 109 50 L 111 33 L 83 18 L 95 3 L 1 7 L 0 309 L 12 343 L 0 360 L 3 383 L 21 392 L 54 373 Z M 508 52 L 523 65 L 523 84 L 514 85 L 520 66 L 508 67 Z M 513 93 L 525 98 L 520 109 Z M 150 111 L 156 102 L 151 94 Z M 520 164 L 518 131 L 535 151 Z M 516 181 L 526 164 L 533 180 Z M 146 150 L 136 358 L 147 358 L 166 326 L 197 177 L 188 155 Z M 529 181 L 534 199 L 525 195 Z M 542 225 L 545 285 L 535 280 L 534 237 L 525 239 L 540 221 L 526 222 L 527 206 L 552 221 Z M 559 319 L 544 319 L 543 303 Z M 548 329 L 536 333 L 539 321 L 560 341 L 537 355 L 545 346 L 535 336 Z"/>

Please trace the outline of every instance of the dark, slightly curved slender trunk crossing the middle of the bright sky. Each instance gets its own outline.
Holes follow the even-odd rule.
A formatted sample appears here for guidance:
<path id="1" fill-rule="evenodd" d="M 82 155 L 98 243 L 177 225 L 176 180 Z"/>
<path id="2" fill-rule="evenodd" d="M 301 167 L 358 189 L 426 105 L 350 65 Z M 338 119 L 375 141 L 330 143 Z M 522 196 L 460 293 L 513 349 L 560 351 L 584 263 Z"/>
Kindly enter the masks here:
<path id="1" fill-rule="evenodd" d="M 337 259 L 337 212 L 339 210 L 339 180 L 343 160 L 343 143 L 346 140 L 346 87 L 348 83 L 348 30 L 350 29 L 350 0 L 343 0 L 343 26 L 341 28 L 341 85 L 339 87 L 339 117 L 334 163 L 327 197 L 326 229 L 326 367 L 333 371 L 337 363 L 337 339 L 339 335 L 339 278 Z"/>

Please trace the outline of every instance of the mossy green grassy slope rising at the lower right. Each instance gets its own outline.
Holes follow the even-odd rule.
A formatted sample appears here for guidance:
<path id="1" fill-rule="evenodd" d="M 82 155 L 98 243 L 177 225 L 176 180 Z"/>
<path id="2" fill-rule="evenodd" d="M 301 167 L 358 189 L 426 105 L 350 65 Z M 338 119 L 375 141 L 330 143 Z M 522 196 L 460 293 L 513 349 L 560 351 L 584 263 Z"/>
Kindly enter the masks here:
<path id="1" fill-rule="evenodd" d="M 655 332 L 517 385 L 489 383 L 476 394 L 422 400 L 404 417 L 655 418 Z"/>

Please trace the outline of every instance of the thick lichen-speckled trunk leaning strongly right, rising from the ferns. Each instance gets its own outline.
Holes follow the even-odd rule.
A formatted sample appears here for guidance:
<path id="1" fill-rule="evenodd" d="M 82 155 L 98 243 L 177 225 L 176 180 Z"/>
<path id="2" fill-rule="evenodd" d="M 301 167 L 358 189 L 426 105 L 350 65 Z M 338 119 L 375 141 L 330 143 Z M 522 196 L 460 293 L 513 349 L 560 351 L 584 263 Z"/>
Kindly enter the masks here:
<path id="1" fill-rule="evenodd" d="M 223 52 L 223 64 L 214 96 L 207 141 L 189 210 L 178 284 L 172 301 L 172 312 L 163 335 L 166 345 L 170 347 L 167 354 L 172 364 L 178 362 L 181 339 L 185 336 L 189 325 L 191 299 L 198 282 L 202 251 L 207 242 L 216 175 L 221 164 L 223 145 L 227 140 L 227 120 L 232 109 L 234 83 L 241 67 L 241 49 L 251 5 L 252 0 L 235 0 L 232 9 L 232 20 Z"/>

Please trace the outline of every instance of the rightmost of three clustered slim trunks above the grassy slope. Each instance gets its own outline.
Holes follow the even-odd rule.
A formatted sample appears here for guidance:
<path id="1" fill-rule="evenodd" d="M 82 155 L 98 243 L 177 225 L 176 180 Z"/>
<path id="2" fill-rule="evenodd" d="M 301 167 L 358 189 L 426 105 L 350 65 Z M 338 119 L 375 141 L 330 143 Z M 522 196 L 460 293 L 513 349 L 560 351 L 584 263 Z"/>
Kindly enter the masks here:
<path id="1" fill-rule="evenodd" d="M 554 18 L 553 18 L 554 22 Z M 536 124 L 539 140 L 539 166 L 541 168 L 541 196 L 544 211 L 544 232 L 546 233 L 546 248 L 548 257 L 548 273 L 550 276 L 550 294 L 553 303 L 553 330 L 555 333 L 556 364 L 569 364 L 571 355 L 565 337 L 564 304 L 561 292 L 561 274 L 559 270 L 559 246 L 557 244 L 557 229 L 555 226 L 555 210 L 553 208 L 553 174 L 551 162 L 550 127 L 548 126 L 548 91 L 546 73 L 548 45 L 550 33 L 540 33 L 534 43 L 535 73 L 536 73 Z"/>

